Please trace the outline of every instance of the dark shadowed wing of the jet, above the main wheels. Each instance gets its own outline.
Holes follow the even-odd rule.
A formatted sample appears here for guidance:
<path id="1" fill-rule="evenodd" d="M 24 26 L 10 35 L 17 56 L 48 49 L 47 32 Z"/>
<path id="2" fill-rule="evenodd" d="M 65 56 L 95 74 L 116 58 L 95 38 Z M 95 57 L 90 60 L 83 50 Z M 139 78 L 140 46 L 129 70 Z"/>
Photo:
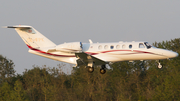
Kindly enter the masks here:
<path id="1" fill-rule="evenodd" d="M 98 59 L 90 54 L 87 54 L 87 53 L 75 53 L 76 57 L 79 58 L 77 60 L 77 64 L 78 66 L 80 65 L 88 65 L 88 63 L 94 63 L 95 65 L 104 65 L 104 64 L 107 64 L 107 62 L 101 60 L 101 59 Z"/>

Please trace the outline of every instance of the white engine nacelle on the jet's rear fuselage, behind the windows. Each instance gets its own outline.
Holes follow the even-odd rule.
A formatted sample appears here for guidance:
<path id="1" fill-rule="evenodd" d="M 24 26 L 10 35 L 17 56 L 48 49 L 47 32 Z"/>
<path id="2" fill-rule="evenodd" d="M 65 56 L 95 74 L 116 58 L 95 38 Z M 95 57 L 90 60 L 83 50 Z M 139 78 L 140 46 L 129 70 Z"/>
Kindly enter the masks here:
<path id="1" fill-rule="evenodd" d="M 76 53 L 82 51 L 81 42 L 64 43 L 56 46 L 57 51 Z"/>

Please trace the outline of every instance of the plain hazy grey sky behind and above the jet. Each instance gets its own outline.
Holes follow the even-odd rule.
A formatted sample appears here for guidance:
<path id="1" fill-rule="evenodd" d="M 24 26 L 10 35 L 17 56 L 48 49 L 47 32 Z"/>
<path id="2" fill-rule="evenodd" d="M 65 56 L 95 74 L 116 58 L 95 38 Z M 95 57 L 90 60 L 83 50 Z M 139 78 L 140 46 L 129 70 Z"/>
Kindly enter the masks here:
<path id="1" fill-rule="evenodd" d="M 180 0 L 1 0 L 0 26 L 7 25 L 33 26 L 57 45 L 161 42 L 180 38 Z M 62 63 L 28 53 L 14 29 L 0 28 L 0 54 L 13 60 L 19 74 L 33 65 Z"/>

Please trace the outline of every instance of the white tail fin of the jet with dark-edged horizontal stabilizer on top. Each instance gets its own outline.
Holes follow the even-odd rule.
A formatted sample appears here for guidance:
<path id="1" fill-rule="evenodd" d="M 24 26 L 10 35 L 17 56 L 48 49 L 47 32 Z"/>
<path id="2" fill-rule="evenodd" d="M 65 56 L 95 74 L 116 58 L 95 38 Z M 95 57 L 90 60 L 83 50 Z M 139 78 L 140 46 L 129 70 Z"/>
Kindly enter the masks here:
<path id="1" fill-rule="evenodd" d="M 56 46 L 56 44 L 31 26 L 18 25 L 7 26 L 6 28 L 14 28 L 29 48 L 44 49 Z"/>

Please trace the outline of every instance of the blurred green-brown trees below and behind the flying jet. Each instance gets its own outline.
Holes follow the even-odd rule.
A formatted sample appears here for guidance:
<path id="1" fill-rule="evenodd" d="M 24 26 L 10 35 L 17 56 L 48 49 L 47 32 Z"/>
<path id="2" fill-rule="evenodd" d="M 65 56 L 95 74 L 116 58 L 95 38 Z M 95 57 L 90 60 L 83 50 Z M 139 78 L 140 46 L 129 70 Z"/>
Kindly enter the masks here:
<path id="1" fill-rule="evenodd" d="M 155 42 L 180 54 L 180 39 Z M 63 73 L 57 67 L 33 66 L 15 74 L 14 63 L 0 56 L 0 101 L 180 101 L 180 56 L 161 60 L 117 62 L 100 74 L 87 68 Z"/>

